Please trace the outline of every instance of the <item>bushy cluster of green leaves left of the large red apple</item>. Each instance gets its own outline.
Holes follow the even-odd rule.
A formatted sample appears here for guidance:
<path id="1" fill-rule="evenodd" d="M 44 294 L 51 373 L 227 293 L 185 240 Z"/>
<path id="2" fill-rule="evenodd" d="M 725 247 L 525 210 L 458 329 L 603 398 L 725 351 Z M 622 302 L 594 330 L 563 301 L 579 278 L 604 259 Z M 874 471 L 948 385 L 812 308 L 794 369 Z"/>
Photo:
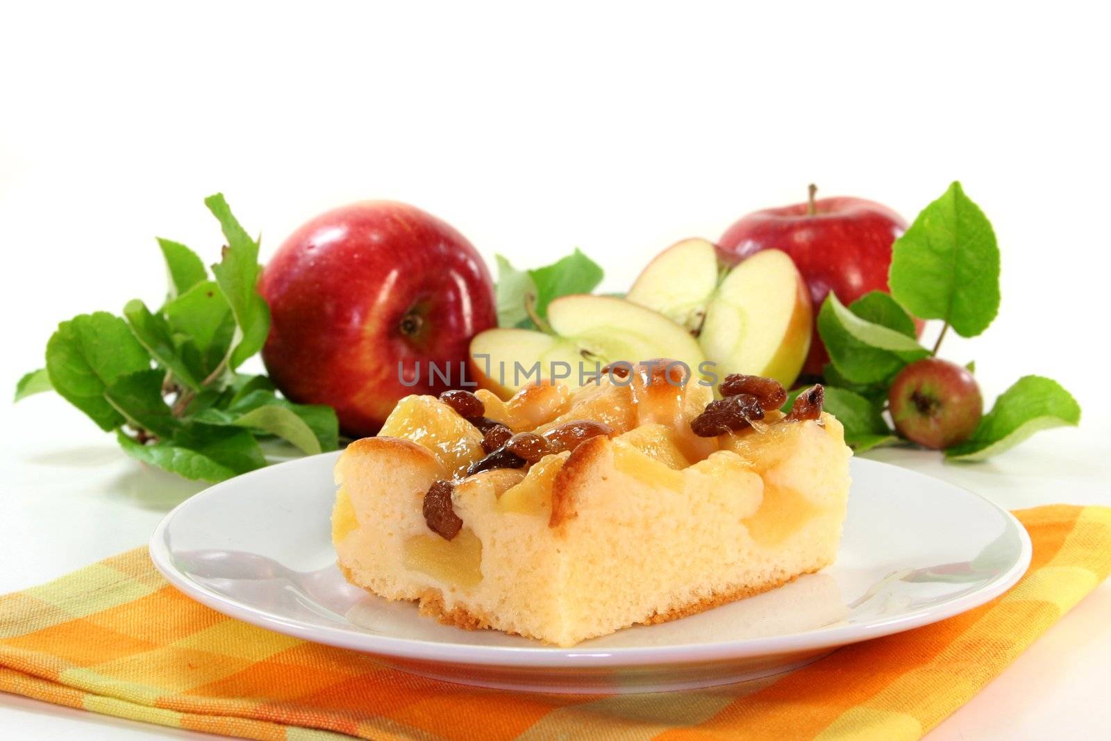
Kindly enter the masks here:
<path id="1" fill-rule="evenodd" d="M 54 390 L 129 455 L 190 479 L 219 481 L 266 465 L 259 440 L 278 437 L 304 453 L 338 447 L 336 412 L 278 395 L 264 375 L 239 373 L 262 349 L 270 312 L 258 291 L 259 243 L 223 196 L 204 200 L 227 247 L 212 278 L 188 247 L 158 244 L 167 299 L 139 299 L 122 316 L 80 314 L 47 342 L 46 367 L 16 385 L 16 400 Z"/>

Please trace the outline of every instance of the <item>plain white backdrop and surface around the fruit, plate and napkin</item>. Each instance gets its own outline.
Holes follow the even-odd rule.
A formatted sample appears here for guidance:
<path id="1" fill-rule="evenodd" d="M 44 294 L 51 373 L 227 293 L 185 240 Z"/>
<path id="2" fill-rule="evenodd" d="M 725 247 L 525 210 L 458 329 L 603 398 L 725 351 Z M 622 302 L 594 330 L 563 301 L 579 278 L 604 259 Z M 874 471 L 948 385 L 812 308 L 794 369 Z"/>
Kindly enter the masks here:
<path id="1" fill-rule="evenodd" d="M 943 354 L 974 359 L 989 398 L 1051 375 L 1084 422 L 978 468 L 877 457 L 1009 507 L 1105 503 L 1108 19 L 1094 3 L 767 4 L 2 6 L 0 389 L 42 364 L 58 321 L 157 302 L 154 236 L 213 261 L 201 201 L 218 190 L 263 257 L 319 211 L 388 198 L 488 259 L 579 246 L 623 290 L 669 243 L 811 181 L 910 220 L 960 179 L 994 224 L 1003 299 Z M 0 420 L 3 590 L 141 543 L 192 490 L 57 398 L 0 403 Z M 934 738 L 1111 732 L 1090 712 L 1109 605 L 1098 591 Z M 162 733 L 0 695 L 8 728 Z"/>

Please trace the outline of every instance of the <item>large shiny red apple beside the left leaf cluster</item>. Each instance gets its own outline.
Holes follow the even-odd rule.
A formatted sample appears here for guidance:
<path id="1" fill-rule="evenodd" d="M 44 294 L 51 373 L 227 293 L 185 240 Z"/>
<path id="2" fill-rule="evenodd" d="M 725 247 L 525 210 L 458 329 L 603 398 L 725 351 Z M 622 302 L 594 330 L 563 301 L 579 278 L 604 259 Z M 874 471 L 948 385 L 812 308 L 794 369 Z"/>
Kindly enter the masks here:
<path id="1" fill-rule="evenodd" d="M 298 229 L 260 290 L 272 318 L 262 350 L 270 377 L 292 401 L 336 408 L 352 437 L 377 432 L 404 395 L 459 388 L 471 338 L 498 321 L 471 243 L 391 201 L 344 206 Z M 430 363 L 441 375 L 430 378 Z M 418 382 L 402 383 L 399 364 Z"/>

